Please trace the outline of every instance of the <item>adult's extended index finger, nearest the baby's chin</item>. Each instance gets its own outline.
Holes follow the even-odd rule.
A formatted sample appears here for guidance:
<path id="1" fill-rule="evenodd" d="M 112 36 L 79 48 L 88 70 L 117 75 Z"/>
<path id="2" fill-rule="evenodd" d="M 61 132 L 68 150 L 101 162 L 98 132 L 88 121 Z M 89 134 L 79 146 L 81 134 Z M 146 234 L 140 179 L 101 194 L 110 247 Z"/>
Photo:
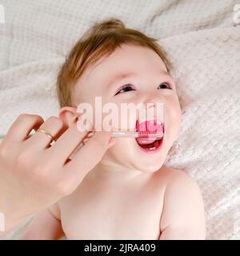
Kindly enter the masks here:
<path id="1" fill-rule="evenodd" d="M 74 158 L 66 163 L 63 175 L 73 178 L 76 184 L 82 182 L 82 178 L 101 161 L 109 148 L 110 136 L 110 132 L 96 131 L 86 145 L 74 155 Z"/>

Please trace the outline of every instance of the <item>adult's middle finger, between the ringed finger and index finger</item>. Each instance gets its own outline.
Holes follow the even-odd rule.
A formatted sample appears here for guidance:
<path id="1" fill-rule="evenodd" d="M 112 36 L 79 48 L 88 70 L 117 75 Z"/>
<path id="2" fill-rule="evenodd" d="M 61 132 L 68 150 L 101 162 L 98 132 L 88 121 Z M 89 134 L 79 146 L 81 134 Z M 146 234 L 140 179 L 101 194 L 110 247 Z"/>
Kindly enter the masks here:
<path id="1" fill-rule="evenodd" d="M 64 165 L 66 160 L 70 157 L 70 154 L 76 150 L 83 139 L 86 138 L 87 134 L 89 134 L 89 131 L 79 131 L 77 122 L 74 122 L 73 125 L 58 138 L 58 141 L 50 147 L 49 151 L 52 158 L 58 157 L 59 163 Z"/>

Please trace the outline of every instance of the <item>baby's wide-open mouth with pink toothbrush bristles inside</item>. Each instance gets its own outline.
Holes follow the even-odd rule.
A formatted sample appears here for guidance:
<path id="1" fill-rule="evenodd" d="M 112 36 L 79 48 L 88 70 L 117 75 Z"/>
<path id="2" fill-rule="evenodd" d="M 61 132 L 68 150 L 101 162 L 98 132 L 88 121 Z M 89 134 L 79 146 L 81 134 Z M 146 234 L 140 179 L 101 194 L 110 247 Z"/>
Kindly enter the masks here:
<path id="1" fill-rule="evenodd" d="M 142 134 L 164 133 L 163 123 L 159 122 L 156 119 L 141 122 L 141 123 L 139 123 L 139 121 L 137 120 L 136 130 Z M 156 137 L 155 138 L 154 137 L 136 138 L 136 142 L 138 143 L 138 146 L 140 146 L 142 148 L 142 150 L 144 150 L 146 152 L 153 152 L 155 150 L 158 150 L 159 146 L 162 145 L 163 137 L 161 139 L 156 139 Z"/>

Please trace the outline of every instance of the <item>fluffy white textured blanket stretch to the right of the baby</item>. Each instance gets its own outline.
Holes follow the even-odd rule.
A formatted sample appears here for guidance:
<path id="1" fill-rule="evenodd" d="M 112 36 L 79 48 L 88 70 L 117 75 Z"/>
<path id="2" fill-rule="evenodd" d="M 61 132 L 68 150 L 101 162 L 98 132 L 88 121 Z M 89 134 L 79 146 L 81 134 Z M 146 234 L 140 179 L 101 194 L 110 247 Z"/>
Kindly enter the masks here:
<path id="1" fill-rule="evenodd" d="M 214 32 L 214 33 L 213 33 Z M 207 238 L 240 238 L 240 27 L 162 40 L 174 63 L 182 124 L 166 166 L 201 187 Z"/>

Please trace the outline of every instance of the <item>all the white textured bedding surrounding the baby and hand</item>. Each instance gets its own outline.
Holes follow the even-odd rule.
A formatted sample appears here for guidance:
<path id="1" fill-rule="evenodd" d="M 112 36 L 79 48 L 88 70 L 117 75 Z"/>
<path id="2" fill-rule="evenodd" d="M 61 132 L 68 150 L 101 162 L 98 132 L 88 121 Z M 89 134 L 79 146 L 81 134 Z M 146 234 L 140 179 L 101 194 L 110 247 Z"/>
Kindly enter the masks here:
<path id="1" fill-rule="evenodd" d="M 182 127 L 166 166 L 185 170 L 201 187 L 206 238 L 239 239 L 240 26 L 233 22 L 238 2 L 0 2 L 6 10 L 6 23 L 0 24 L 0 134 L 20 113 L 58 114 L 54 82 L 64 56 L 93 22 L 120 18 L 159 38 L 174 65 Z"/>

